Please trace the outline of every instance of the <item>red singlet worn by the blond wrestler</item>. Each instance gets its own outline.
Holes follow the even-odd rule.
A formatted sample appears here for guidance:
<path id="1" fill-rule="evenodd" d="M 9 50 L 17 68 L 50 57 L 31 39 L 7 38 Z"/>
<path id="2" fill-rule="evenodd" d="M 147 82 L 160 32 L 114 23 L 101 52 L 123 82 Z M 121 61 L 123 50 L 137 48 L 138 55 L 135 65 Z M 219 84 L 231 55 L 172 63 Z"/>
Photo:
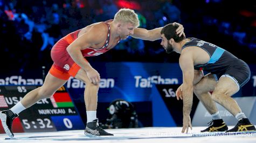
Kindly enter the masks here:
<path id="1" fill-rule="evenodd" d="M 91 47 L 88 47 L 84 50 L 81 50 L 82 55 L 84 57 L 90 57 L 90 56 L 98 56 L 103 54 L 104 52 L 108 51 L 108 43 L 110 41 L 110 26 L 107 23 L 107 21 L 104 22 L 108 26 L 108 33 L 107 38 L 105 41 L 105 44 L 100 49 L 94 49 Z M 78 31 L 72 32 L 62 39 L 60 39 L 56 44 L 54 44 L 52 50 L 51 50 L 51 57 L 53 60 L 53 65 L 50 69 L 50 73 L 57 78 L 68 80 L 70 76 L 75 77 L 75 74 L 81 69 L 81 67 L 76 64 L 71 56 L 67 52 L 67 47 L 78 38 L 78 34 L 81 31 L 79 29 Z M 119 41 L 118 41 L 119 42 Z M 118 43 L 117 42 L 117 43 Z M 85 59 L 86 60 L 86 59 Z"/>

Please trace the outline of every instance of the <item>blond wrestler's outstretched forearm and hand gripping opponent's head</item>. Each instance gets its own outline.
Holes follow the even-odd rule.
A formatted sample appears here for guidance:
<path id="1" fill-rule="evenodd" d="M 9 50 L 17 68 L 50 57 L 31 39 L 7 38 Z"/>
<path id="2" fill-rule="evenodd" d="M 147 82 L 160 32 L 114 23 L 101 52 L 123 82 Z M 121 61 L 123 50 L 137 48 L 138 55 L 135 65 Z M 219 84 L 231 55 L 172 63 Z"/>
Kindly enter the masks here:
<path id="1" fill-rule="evenodd" d="M 173 25 L 174 24 L 179 25 L 179 27 L 176 30 L 176 32 L 177 32 L 177 34 L 179 34 L 179 36 L 181 36 L 181 35 L 185 36 L 183 25 L 181 25 L 177 22 L 174 22 L 172 24 Z M 147 30 L 147 29 L 144 29 L 144 28 L 135 28 L 134 29 L 134 34 L 131 35 L 131 36 L 136 38 L 136 39 L 155 41 L 155 40 L 161 39 L 161 33 L 160 32 L 161 32 L 162 28 L 163 27 L 155 28 L 155 29 L 152 29 L 152 30 Z"/>

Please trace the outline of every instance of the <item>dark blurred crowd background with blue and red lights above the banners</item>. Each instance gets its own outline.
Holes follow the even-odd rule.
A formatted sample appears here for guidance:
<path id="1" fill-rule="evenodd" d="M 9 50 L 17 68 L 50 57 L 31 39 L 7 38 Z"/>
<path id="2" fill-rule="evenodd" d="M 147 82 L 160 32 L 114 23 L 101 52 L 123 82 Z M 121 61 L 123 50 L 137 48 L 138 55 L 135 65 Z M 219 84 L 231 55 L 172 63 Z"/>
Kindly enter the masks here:
<path id="1" fill-rule="evenodd" d="M 232 4 L 231 4 L 232 3 Z M 122 7 L 135 10 L 140 27 L 153 29 L 179 22 L 186 37 L 197 37 L 256 63 L 256 1 L 228 0 L 0 0 L 0 61 L 2 72 L 50 67 L 50 51 L 66 34 L 113 19 Z M 90 62 L 178 62 L 158 41 L 129 37 Z"/>

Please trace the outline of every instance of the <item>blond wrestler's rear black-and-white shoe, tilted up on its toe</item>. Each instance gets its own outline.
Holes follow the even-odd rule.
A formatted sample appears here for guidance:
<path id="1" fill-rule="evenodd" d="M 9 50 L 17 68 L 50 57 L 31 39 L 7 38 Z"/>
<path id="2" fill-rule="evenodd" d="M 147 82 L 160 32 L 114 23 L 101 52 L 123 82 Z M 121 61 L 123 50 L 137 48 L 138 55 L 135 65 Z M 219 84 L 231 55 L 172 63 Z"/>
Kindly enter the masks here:
<path id="1" fill-rule="evenodd" d="M 11 110 L 4 110 L 0 112 L 0 119 L 4 128 L 4 131 L 10 138 L 14 137 L 11 126 L 13 119 L 17 118 L 18 115 L 13 113 Z"/>

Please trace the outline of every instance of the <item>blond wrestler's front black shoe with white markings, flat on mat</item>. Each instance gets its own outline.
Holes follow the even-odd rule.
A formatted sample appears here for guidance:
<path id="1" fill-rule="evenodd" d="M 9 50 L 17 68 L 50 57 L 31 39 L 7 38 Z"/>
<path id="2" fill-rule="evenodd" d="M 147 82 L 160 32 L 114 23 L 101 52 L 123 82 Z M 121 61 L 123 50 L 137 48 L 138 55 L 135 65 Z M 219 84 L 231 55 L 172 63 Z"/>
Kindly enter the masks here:
<path id="1" fill-rule="evenodd" d="M 85 135 L 86 136 L 114 136 L 112 133 L 108 133 L 104 131 L 100 126 L 99 126 L 99 120 L 94 119 L 94 121 L 87 123 L 86 128 L 85 128 Z"/>

